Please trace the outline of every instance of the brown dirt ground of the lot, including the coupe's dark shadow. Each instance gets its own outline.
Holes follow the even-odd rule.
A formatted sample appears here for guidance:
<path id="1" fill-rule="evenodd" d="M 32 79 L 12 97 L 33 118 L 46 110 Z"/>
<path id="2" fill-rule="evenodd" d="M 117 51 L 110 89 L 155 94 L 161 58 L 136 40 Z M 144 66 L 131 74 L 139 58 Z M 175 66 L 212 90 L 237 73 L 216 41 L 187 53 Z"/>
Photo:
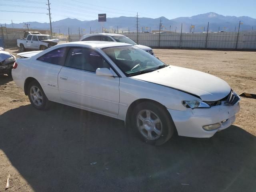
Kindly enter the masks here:
<path id="1" fill-rule="evenodd" d="M 218 76 L 238 93 L 256 93 L 256 52 L 154 52 L 166 64 Z M 210 139 L 174 136 L 154 147 L 114 118 L 61 104 L 36 110 L 0 76 L 0 192 L 255 192 L 256 99 L 242 98 L 240 106 L 234 125 Z"/>

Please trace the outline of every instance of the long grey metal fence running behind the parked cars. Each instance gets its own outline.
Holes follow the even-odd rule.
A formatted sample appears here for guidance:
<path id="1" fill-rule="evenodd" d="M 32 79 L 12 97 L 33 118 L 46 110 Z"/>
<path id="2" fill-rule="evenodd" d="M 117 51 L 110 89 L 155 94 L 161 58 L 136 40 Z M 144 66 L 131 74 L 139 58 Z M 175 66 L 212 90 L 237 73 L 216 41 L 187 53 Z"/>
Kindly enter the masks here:
<path id="1" fill-rule="evenodd" d="M 149 47 L 164 48 L 216 48 L 216 49 L 235 49 L 236 42 L 238 49 L 256 50 L 256 32 L 209 32 L 207 33 L 139 33 L 138 41 L 136 33 L 124 34 L 138 44 Z M 207 36 L 207 47 L 206 47 Z M 238 38 L 237 38 L 238 37 Z M 79 41 L 78 34 L 70 35 L 70 41 Z M 181 40 L 181 42 L 180 42 Z M 181 45 L 181 46 L 180 46 Z"/>

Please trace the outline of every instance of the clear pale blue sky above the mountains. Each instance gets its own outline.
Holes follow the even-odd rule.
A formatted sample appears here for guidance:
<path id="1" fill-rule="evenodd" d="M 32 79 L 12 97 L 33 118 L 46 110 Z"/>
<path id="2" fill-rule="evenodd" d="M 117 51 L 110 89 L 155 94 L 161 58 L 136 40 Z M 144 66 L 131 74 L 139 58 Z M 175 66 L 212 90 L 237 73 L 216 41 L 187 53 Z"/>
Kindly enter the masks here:
<path id="1" fill-rule="evenodd" d="M 47 0 L 0 0 L 0 23 L 49 22 L 46 3 Z M 53 21 L 67 17 L 94 20 L 98 13 L 106 13 L 107 17 L 135 16 L 136 12 L 139 17 L 168 19 L 207 12 L 256 18 L 256 0 L 50 0 L 50 3 Z"/>

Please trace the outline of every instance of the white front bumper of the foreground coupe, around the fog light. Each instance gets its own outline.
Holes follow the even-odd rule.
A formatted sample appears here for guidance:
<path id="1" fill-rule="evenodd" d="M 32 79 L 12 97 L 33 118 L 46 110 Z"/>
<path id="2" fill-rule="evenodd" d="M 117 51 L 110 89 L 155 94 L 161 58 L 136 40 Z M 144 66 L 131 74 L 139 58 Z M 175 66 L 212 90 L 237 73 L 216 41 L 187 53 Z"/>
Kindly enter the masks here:
<path id="1" fill-rule="evenodd" d="M 240 110 L 239 103 L 234 106 L 214 106 L 211 108 L 188 108 L 185 111 L 168 109 L 172 116 L 178 135 L 197 138 L 210 138 L 217 131 L 228 128 L 236 120 L 236 113 Z M 215 130 L 207 131 L 203 126 L 220 123 Z"/>

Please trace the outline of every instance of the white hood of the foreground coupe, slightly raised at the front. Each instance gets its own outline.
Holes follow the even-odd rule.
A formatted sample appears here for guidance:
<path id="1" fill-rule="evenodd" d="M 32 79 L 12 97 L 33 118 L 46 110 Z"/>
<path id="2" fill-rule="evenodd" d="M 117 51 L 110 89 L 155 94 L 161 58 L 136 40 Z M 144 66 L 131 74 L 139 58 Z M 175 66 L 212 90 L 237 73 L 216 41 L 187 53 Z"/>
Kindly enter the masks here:
<path id="1" fill-rule="evenodd" d="M 199 96 L 203 101 L 220 100 L 231 90 L 227 82 L 216 76 L 177 66 L 167 66 L 132 78 L 181 90 Z"/>

